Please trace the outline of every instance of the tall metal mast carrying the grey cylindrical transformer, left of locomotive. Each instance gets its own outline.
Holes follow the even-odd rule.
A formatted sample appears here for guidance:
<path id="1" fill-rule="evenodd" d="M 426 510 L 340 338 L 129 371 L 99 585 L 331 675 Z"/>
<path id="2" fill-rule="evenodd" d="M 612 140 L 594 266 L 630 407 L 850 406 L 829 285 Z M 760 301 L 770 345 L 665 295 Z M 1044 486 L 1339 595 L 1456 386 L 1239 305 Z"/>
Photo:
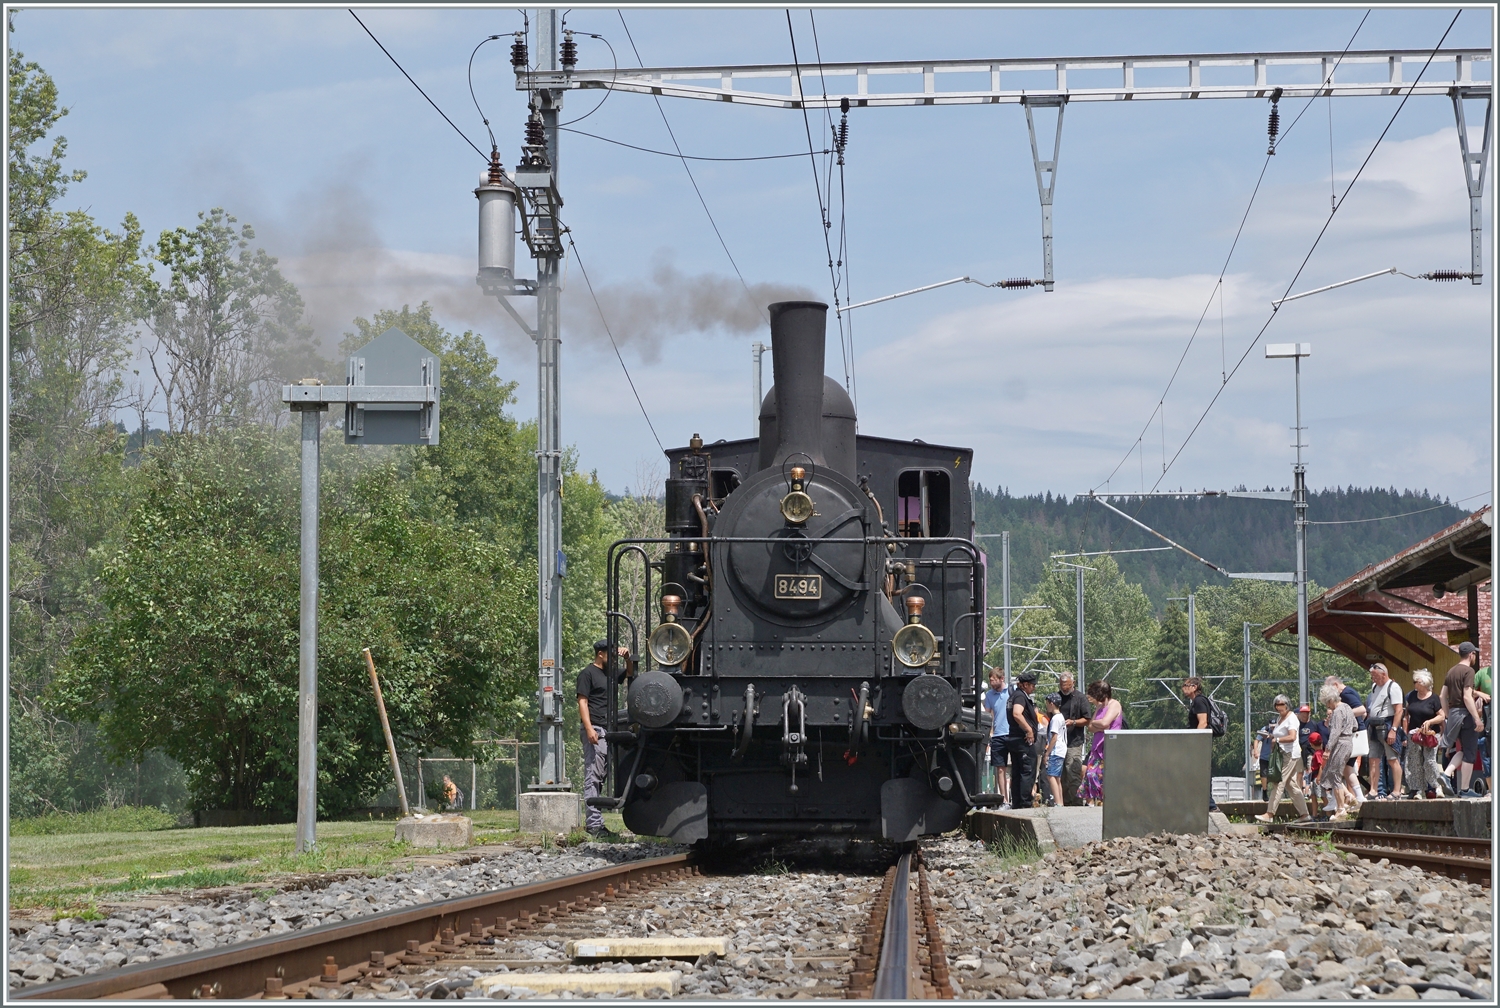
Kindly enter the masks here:
<path id="1" fill-rule="evenodd" d="M 558 70 L 558 12 L 536 12 L 537 69 Z M 537 92 L 554 186 L 562 90 Z M 552 222 L 556 226 L 556 222 Z M 558 315 L 561 250 L 537 260 L 537 780 L 538 790 L 568 790 L 562 738 L 562 386 Z"/>

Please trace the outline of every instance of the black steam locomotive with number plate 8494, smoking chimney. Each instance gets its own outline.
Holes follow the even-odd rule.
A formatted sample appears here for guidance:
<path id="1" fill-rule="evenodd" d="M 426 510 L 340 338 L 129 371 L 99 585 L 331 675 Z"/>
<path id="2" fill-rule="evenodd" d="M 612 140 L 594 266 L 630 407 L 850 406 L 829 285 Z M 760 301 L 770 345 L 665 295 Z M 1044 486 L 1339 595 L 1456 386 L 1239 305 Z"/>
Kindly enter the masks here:
<path id="1" fill-rule="evenodd" d="M 770 314 L 760 436 L 668 452 L 666 538 L 610 548 L 610 642 L 645 640 L 651 668 L 609 711 L 591 801 L 684 843 L 952 830 L 990 798 L 972 452 L 856 435 L 828 306 Z M 644 612 L 621 604 L 630 566 Z"/>

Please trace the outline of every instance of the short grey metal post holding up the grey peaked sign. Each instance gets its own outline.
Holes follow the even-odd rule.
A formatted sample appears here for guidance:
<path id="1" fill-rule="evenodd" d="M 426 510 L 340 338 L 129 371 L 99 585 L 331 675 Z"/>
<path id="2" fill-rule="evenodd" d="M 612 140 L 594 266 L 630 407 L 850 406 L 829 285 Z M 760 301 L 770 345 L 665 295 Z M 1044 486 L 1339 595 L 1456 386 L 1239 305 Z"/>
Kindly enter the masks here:
<path id="1" fill-rule="evenodd" d="M 297 854 L 318 843 L 318 438 L 327 406 L 302 406 L 302 624 L 297 656 Z"/>

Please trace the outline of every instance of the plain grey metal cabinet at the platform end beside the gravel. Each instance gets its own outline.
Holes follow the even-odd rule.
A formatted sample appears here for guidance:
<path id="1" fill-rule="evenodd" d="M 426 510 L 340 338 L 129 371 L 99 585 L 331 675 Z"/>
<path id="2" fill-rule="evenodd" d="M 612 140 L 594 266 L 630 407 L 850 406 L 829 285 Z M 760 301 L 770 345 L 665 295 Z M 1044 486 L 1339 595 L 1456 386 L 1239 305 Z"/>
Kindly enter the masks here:
<path id="1" fill-rule="evenodd" d="M 1209 831 L 1210 730 L 1106 732 L 1104 752 L 1104 840 Z"/>

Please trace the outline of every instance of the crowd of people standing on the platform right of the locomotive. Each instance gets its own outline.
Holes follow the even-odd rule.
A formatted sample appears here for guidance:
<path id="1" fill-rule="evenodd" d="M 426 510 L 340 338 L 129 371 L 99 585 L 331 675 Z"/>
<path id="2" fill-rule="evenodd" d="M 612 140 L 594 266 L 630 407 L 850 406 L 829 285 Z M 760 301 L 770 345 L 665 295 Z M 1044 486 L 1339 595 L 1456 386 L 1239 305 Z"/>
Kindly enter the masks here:
<path id="1" fill-rule="evenodd" d="M 1480 668 L 1479 648 L 1467 640 L 1440 688 L 1431 672 L 1416 669 L 1404 694 L 1382 663 L 1370 668 L 1365 696 L 1330 675 L 1317 694 L 1318 718 L 1312 705 L 1276 696 L 1251 753 L 1268 804 L 1260 819 L 1272 820 L 1282 801 L 1300 822 L 1340 822 L 1366 800 L 1486 795 L 1490 666 Z M 1035 672 L 1008 684 L 1002 669 L 990 669 L 980 702 L 993 718 L 990 766 L 1000 807 L 1102 804 L 1106 732 L 1126 728 L 1124 706 L 1108 682 L 1090 682 L 1084 696 L 1066 672 L 1056 693 L 1035 693 Z M 1185 728 L 1208 729 L 1210 717 L 1221 717 L 1202 680 L 1185 680 L 1182 694 Z"/>

